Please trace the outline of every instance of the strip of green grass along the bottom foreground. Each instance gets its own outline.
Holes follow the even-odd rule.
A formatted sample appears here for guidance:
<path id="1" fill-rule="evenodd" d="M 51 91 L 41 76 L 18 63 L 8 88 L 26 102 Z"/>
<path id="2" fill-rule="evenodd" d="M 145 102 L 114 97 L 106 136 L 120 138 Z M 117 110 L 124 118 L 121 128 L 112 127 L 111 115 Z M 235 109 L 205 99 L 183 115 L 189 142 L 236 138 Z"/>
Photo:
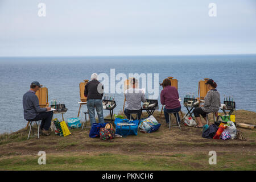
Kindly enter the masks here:
<path id="1" fill-rule="evenodd" d="M 217 164 L 210 165 L 208 154 L 174 154 L 170 156 L 114 155 L 47 155 L 46 165 L 39 156 L 0 158 L 1 170 L 255 170 L 254 154 L 217 154 Z M 234 160 L 236 159 L 236 160 Z"/>

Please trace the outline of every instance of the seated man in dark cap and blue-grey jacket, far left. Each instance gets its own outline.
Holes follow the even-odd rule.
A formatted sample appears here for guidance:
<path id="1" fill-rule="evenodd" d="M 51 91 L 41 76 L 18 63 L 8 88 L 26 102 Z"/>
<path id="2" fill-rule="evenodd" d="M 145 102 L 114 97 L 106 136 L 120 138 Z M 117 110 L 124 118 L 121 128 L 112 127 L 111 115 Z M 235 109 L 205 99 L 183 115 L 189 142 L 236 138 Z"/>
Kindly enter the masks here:
<path id="1" fill-rule="evenodd" d="M 38 96 L 35 93 L 41 86 L 38 81 L 34 81 L 30 85 L 30 90 L 23 95 L 24 119 L 27 121 L 42 120 L 40 133 L 49 136 L 48 130 L 51 126 L 53 112 L 49 111 L 51 107 L 41 108 L 39 106 Z"/>

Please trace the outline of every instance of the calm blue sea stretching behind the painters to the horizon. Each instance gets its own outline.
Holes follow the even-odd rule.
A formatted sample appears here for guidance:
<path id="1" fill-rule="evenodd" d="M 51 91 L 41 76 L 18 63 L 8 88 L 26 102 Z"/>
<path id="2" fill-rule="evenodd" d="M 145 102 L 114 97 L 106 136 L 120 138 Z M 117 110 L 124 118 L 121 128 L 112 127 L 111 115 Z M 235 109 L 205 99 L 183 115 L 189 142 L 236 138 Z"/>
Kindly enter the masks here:
<path id="1" fill-rule="evenodd" d="M 180 97 L 198 93 L 198 81 L 212 78 L 218 84 L 221 102 L 233 96 L 237 109 L 256 111 L 256 55 L 222 56 L 130 56 L 130 57 L 16 57 L 0 58 L 0 133 L 10 133 L 26 126 L 22 96 L 32 81 L 48 88 L 48 100 L 64 102 L 64 118 L 77 116 L 79 83 L 90 75 L 115 69 L 125 73 L 159 73 L 159 82 L 168 76 L 178 80 Z M 115 81 L 117 84 L 118 81 Z M 159 94 L 160 94 L 159 86 Z M 123 107 L 123 94 L 115 94 L 117 114 Z M 160 97 L 158 97 L 160 103 Z M 162 106 L 160 105 L 159 108 Z M 86 110 L 86 105 L 82 111 Z M 185 107 L 182 107 L 185 111 Z M 104 111 L 104 115 L 109 114 Z M 61 119 L 61 115 L 55 115 Z M 80 114 L 82 121 L 84 114 Z"/>

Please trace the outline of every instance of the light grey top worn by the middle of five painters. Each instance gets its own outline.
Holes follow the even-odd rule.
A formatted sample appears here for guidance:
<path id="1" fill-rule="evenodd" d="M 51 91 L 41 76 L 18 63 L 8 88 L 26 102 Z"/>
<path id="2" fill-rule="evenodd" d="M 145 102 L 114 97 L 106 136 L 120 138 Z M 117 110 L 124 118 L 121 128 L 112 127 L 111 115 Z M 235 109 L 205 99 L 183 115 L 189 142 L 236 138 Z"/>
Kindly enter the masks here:
<path id="1" fill-rule="evenodd" d="M 141 102 L 146 102 L 146 97 L 141 89 L 130 88 L 125 91 L 126 109 L 139 110 L 141 109 Z"/>

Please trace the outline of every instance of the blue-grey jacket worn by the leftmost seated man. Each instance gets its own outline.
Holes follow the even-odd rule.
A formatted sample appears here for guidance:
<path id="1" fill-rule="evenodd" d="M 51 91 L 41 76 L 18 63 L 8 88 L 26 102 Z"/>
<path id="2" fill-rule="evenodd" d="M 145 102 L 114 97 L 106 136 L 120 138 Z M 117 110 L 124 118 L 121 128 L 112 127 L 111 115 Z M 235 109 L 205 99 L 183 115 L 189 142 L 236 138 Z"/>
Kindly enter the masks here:
<path id="1" fill-rule="evenodd" d="M 23 95 L 24 119 L 34 119 L 37 114 L 47 111 L 46 108 L 39 106 L 38 96 L 35 92 L 29 90 Z"/>

